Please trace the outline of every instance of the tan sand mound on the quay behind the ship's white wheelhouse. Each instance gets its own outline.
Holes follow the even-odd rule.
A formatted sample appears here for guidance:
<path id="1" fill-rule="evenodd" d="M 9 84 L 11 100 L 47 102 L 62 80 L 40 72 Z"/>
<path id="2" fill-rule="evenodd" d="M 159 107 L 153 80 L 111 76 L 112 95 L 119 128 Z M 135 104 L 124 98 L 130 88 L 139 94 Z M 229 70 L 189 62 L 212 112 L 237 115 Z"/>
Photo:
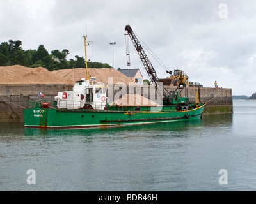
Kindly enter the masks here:
<path id="1" fill-rule="evenodd" d="M 86 68 L 62 69 L 52 71 L 52 73 L 72 81 L 74 77 L 74 82 L 81 80 L 81 78 L 86 78 Z M 130 78 L 113 68 L 88 68 L 88 77 L 95 77 L 97 82 L 103 82 L 105 84 L 108 84 L 109 77 L 113 77 L 114 84 L 118 82 L 125 84 L 133 83 Z"/>

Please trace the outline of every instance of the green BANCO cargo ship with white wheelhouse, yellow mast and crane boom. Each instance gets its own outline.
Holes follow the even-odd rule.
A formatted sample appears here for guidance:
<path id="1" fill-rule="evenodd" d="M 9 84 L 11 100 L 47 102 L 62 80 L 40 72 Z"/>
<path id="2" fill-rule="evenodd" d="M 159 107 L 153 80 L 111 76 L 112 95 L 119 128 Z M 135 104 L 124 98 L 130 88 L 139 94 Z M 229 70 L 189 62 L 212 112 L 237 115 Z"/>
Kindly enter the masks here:
<path id="1" fill-rule="evenodd" d="M 168 92 L 161 86 L 156 71 L 143 52 L 131 27 L 127 25 L 125 30 L 131 36 L 141 61 L 147 62 L 143 64 L 152 84 L 162 94 L 163 103 L 156 106 L 136 104 L 120 106 L 109 103 L 108 85 L 88 77 L 86 55 L 88 44 L 84 36 L 86 78 L 75 82 L 72 91 L 58 92 L 52 100 L 28 101 L 27 108 L 24 109 L 24 126 L 27 128 L 89 128 L 200 119 L 205 103 L 199 102 L 198 98 L 191 103 L 189 98 L 181 96 L 182 90 Z"/>

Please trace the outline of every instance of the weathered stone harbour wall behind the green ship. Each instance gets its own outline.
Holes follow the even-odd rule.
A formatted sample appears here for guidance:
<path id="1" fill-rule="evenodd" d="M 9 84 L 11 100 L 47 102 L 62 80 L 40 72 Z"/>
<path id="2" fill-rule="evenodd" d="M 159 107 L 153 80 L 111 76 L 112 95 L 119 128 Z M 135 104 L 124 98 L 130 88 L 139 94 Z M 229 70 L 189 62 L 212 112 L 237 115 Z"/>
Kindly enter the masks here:
<path id="1" fill-rule="evenodd" d="M 0 84 L 0 122 L 23 122 L 23 110 L 27 102 L 36 99 L 53 100 L 60 91 L 71 91 L 73 84 Z M 174 91 L 176 87 L 166 87 Z M 42 92 L 45 96 L 38 96 Z M 199 101 L 207 102 L 204 114 L 233 113 L 232 89 L 185 87 L 182 96 L 189 97 L 189 101 L 196 101 L 196 92 Z M 148 85 L 109 85 L 108 96 L 118 94 L 140 94 L 147 98 L 157 98 L 154 87 Z M 151 96 L 150 96 L 151 94 Z M 155 96 L 152 96 L 154 94 Z M 112 100 L 113 101 L 113 100 Z"/>

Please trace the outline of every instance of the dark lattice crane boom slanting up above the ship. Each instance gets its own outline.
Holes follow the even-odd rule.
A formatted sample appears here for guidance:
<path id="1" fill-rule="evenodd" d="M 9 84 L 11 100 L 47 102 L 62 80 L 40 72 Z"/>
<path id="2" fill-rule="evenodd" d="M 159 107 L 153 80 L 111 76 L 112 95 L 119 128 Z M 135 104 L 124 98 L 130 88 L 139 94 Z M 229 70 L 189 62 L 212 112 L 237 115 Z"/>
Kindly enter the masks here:
<path id="1" fill-rule="evenodd" d="M 141 59 L 141 62 L 143 63 L 144 68 L 146 69 L 147 73 L 148 73 L 148 77 L 150 77 L 150 80 L 153 82 L 153 84 L 155 85 L 157 91 L 162 91 L 164 94 L 164 97 L 166 99 L 168 99 L 168 96 L 166 94 L 165 90 L 164 91 L 164 87 L 159 85 L 159 78 L 157 77 L 157 73 L 156 70 L 154 69 L 153 65 L 151 64 L 151 62 L 149 61 L 147 54 L 145 53 L 145 51 L 143 50 L 140 41 L 138 40 L 138 38 L 136 37 L 136 35 L 134 34 L 134 32 L 132 31 L 132 28 L 130 25 L 126 25 L 125 26 L 125 35 L 129 35 L 132 43 L 134 45 L 134 47 L 136 48 L 136 51 L 138 52 L 138 55 Z M 160 90 L 159 90 L 160 89 Z"/>

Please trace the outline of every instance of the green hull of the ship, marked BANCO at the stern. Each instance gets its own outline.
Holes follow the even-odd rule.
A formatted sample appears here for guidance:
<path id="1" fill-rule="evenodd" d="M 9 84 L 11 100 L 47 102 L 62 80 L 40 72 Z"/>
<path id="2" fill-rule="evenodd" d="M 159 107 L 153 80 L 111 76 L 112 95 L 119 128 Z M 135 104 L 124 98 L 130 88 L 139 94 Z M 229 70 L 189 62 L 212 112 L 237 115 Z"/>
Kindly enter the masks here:
<path id="1" fill-rule="evenodd" d="M 120 126 L 152 122 L 176 122 L 200 119 L 205 103 L 189 109 L 177 110 L 176 106 L 112 107 L 106 110 L 64 109 L 42 106 L 24 110 L 24 126 L 29 128 L 88 128 Z"/>

